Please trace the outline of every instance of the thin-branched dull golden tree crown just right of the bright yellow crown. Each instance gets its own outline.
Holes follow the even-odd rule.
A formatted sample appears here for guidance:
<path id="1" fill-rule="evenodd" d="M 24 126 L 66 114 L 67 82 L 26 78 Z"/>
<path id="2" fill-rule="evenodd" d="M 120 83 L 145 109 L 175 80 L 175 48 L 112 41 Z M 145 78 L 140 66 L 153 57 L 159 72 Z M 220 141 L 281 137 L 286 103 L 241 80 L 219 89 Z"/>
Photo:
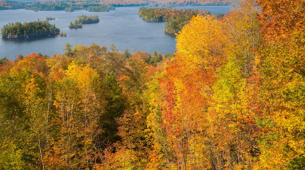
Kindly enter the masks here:
<path id="1" fill-rule="evenodd" d="M 240 7 L 231 9 L 222 18 L 222 27 L 228 41 L 225 51 L 234 55 L 241 72 L 251 76 L 256 49 L 260 46 L 262 36 L 261 24 L 257 15 L 261 10 L 253 0 L 239 2 Z"/>

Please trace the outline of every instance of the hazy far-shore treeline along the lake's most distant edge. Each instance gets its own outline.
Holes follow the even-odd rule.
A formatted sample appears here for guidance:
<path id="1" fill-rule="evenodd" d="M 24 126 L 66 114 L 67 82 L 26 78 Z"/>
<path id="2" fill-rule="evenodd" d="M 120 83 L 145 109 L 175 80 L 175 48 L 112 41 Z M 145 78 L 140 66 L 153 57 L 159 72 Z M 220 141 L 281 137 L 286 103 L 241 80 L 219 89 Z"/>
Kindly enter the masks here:
<path id="1" fill-rule="evenodd" d="M 115 7 L 123 6 L 151 6 L 151 7 L 174 7 L 174 6 L 201 6 L 201 5 L 232 5 L 235 0 L 228 0 L 223 2 L 222 0 L 196 0 L 182 1 L 182 0 L 154 0 L 145 1 L 142 0 L 124 0 L 124 1 L 112 1 L 112 0 L 88 0 L 88 1 L 74 1 L 74 0 L 33 0 L 33 1 L 2 1 L 0 2 L 0 10 L 5 9 L 30 9 L 30 10 L 65 10 L 66 12 L 72 12 L 77 9 L 86 9 L 92 12 L 107 12 Z M 108 10 L 107 10 L 108 9 Z"/>

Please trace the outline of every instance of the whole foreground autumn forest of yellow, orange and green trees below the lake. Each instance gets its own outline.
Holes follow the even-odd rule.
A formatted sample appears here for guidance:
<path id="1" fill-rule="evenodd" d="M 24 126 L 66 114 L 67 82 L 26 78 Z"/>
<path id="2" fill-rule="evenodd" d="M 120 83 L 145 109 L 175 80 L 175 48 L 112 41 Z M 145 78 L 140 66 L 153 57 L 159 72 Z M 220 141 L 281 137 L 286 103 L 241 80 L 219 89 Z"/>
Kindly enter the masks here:
<path id="1" fill-rule="evenodd" d="M 304 0 L 192 16 L 177 51 L 0 59 L 0 169 L 305 169 Z"/>

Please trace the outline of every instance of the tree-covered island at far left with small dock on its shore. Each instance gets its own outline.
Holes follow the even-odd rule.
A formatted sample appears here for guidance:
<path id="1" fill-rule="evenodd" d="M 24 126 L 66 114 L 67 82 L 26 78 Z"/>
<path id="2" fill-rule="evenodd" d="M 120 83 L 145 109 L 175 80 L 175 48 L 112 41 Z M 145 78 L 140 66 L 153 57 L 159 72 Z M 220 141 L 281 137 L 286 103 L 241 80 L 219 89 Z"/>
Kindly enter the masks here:
<path id="1" fill-rule="evenodd" d="M 33 21 L 29 23 L 20 22 L 9 23 L 1 28 L 2 37 L 7 37 L 9 34 L 18 35 L 20 37 L 34 37 L 45 35 L 59 34 L 60 29 L 55 27 L 55 24 L 50 24 L 47 20 Z"/>

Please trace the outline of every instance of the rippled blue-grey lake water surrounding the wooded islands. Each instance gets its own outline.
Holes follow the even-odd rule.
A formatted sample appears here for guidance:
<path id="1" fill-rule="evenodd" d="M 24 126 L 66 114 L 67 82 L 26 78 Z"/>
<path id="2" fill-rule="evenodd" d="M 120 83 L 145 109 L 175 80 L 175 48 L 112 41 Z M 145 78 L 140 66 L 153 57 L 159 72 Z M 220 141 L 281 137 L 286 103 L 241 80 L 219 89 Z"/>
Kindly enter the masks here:
<path id="1" fill-rule="evenodd" d="M 230 6 L 177 6 L 179 9 L 206 9 L 213 14 L 230 11 Z M 110 47 L 114 44 L 119 51 L 152 51 L 173 53 L 176 50 L 176 37 L 164 32 L 164 23 L 147 22 L 138 16 L 139 7 L 117 7 L 110 12 L 88 12 L 76 10 L 64 11 L 38 11 L 25 9 L 0 10 L 0 27 L 15 22 L 31 22 L 46 17 L 56 18 L 49 23 L 55 24 L 61 31 L 67 33 L 66 37 L 19 37 L 0 39 L 0 58 L 15 59 L 18 54 L 29 55 L 41 53 L 52 56 L 63 54 L 65 44 L 81 44 L 90 46 L 93 42 L 99 46 Z M 77 16 L 98 15 L 99 23 L 83 24 L 83 28 L 70 29 L 68 25 L 74 22 Z"/>

